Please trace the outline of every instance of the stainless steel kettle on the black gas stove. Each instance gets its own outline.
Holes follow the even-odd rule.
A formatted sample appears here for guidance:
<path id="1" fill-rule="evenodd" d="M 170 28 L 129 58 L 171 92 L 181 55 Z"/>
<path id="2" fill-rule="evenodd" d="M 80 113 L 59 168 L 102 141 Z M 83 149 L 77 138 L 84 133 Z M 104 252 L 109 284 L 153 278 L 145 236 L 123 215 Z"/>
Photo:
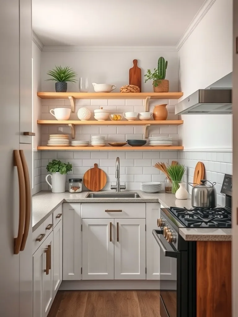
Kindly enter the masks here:
<path id="1" fill-rule="evenodd" d="M 192 189 L 192 206 L 195 208 L 215 208 L 216 207 L 216 184 L 209 182 L 209 180 L 202 179 L 202 184 L 195 185 L 188 183 L 193 186 Z M 205 184 L 209 182 L 210 184 Z"/>

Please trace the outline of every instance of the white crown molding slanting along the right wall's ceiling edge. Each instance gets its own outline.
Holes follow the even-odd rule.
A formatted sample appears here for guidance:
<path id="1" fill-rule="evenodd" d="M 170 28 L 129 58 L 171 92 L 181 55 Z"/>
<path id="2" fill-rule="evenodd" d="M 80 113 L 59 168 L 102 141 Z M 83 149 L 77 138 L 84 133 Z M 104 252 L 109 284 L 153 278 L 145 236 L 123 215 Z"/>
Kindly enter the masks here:
<path id="1" fill-rule="evenodd" d="M 205 2 L 202 4 L 202 7 L 199 9 L 191 23 L 188 25 L 188 28 L 185 30 L 181 38 L 179 39 L 176 49 L 179 51 L 183 44 L 187 41 L 188 37 L 193 33 L 197 25 L 200 23 L 202 18 L 205 16 L 205 14 L 208 12 L 208 10 L 211 8 L 213 3 L 216 0 L 205 0 Z"/>

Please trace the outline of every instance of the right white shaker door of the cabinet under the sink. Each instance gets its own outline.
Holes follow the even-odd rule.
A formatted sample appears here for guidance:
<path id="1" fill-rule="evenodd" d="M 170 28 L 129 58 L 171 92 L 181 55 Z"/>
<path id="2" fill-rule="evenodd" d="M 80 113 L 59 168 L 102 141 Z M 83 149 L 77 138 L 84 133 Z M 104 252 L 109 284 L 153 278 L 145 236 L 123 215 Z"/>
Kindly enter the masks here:
<path id="1" fill-rule="evenodd" d="M 145 219 L 114 219 L 115 280 L 145 280 Z"/>

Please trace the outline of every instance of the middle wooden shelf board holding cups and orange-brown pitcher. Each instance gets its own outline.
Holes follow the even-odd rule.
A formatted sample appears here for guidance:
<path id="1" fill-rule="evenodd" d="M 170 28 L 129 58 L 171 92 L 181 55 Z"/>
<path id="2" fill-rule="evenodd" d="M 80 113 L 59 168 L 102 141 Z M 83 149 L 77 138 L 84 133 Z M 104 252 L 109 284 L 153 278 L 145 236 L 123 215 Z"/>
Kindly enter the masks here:
<path id="1" fill-rule="evenodd" d="M 40 125 L 69 125 L 75 126 L 145 126 L 147 124 L 153 126 L 179 126 L 183 124 L 183 120 L 146 120 L 146 121 L 80 121 L 80 120 L 37 120 Z"/>

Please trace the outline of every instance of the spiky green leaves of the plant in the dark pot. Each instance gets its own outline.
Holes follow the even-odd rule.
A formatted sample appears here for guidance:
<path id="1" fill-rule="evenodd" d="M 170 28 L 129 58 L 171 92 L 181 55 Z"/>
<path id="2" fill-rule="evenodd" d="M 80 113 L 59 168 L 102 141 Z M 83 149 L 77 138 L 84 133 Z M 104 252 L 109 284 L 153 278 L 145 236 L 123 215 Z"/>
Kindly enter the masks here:
<path id="1" fill-rule="evenodd" d="M 48 71 L 47 75 L 51 76 L 52 78 L 46 79 L 46 81 L 69 81 L 72 83 L 76 83 L 77 80 L 75 79 L 75 77 L 77 77 L 76 72 L 73 70 L 73 68 L 70 68 L 69 66 L 55 66 L 55 68 Z"/>

